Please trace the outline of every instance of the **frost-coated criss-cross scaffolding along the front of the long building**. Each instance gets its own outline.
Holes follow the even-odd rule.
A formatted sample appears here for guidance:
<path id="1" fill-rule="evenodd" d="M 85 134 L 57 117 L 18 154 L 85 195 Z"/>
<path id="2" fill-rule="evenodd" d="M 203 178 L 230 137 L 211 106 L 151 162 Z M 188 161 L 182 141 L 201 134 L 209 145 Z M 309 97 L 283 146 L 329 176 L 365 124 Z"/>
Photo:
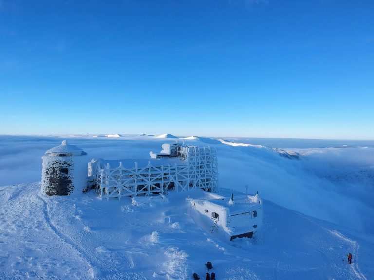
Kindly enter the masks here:
<path id="1" fill-rule="evenodd" d="M 101 198 L 134 195 L 150 195 L 174 189 L 176 192 L 201 188 L 208 192 L 218 191 L 218 166 L 214 148 L 180 146 L 180 164 L 125 168 L 122 162 L 112 168 L 97 168 L 95 174 L 96 192 Z"/>

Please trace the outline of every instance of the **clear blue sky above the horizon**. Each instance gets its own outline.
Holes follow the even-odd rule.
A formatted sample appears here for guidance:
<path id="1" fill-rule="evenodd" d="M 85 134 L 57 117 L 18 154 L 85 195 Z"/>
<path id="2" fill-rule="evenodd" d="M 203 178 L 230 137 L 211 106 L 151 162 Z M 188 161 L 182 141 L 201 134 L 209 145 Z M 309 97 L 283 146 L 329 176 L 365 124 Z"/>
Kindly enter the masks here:
<path id="1" fill-rule="evenodd" d="M 374 139 L 374 1 L 0 0 L 0 134 Z"/>

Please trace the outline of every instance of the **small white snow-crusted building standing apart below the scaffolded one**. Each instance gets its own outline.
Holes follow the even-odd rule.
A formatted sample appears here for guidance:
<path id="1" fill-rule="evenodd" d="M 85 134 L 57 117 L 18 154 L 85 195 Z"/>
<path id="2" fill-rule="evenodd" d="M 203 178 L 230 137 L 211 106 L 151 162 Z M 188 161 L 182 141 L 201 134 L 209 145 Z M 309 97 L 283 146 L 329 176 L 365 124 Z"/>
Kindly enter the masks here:
<path id="1" fill-rule="evenodd" d="M 262 226 L 262 200 L 258 194 L 188 200 L 205 217 L 202 223 L 211 221 L 211 232 L 230 241 L 237 237 L 252 238 Z"/>

